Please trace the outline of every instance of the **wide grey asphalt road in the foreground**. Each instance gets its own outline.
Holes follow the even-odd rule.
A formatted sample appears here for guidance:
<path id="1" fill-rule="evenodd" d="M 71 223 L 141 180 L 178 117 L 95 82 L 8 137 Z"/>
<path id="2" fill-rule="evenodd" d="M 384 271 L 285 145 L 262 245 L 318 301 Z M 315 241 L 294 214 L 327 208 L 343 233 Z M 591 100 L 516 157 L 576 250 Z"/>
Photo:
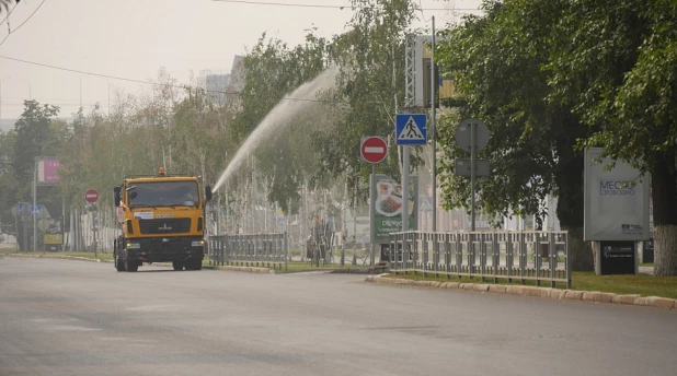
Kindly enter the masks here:
<path id="1" fill-rule="evenodd" d="M 0 259 L 0 375 L 676 375 L 677 312 Z"/>

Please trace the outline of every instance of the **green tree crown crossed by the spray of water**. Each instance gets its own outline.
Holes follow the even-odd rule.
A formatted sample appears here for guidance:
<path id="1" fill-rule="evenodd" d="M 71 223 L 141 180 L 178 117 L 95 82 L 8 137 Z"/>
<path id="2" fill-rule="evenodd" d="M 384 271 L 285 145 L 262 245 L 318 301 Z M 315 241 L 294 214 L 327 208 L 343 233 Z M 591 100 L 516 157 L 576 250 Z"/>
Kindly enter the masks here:
<path id="1" fill-rule="evenodd" d="M 315 160 L 315 152 L 303 133 L 320 126 L 315 108 L 319 105 L 312 98 L 284 98 L 325 69 L 326 42 L 313 32 L 306 36 L 303 45 L 292 49 L 278 39 L 266 40 L 264 34 L 243 60 L 246 80 L 240 95 L 242 109 L 233 122 L 240 143 L 280 101 L 299 102 L 294 107 L 298 114 L 288 124 L 276 125 L 279 130 L 274 136 L 266 134 L 268 139 L 255 151 L 255 171 L 265 176 L 257 185 L 264 186 L 267 200 L 277 202 L 284 212 L 289 212 L 289 202 L 300 199 L 299 187 L 311 174 Z"/>

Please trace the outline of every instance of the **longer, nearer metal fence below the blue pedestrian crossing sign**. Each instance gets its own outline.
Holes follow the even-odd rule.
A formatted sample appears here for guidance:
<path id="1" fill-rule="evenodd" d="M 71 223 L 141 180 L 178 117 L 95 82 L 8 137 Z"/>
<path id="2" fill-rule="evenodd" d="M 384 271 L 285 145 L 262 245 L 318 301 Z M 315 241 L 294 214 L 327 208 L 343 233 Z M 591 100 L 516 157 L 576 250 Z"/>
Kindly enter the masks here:
<path id="1" fill-rule="evenodd" d="M 566 283 L 571 289 L 569 233 L 551 232 L 401 232 L 390 234 L 385 255 L 390 270 L 481 281 L 527 280 Z"/>

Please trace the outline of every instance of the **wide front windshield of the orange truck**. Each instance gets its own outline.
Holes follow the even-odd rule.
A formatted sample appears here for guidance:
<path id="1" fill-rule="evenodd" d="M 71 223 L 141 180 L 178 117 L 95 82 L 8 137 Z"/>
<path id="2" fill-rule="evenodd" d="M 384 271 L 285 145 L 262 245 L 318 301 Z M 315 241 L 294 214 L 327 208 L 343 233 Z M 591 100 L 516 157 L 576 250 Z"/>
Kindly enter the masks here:
<path id="1" fill-rule="evenodd" d="M 196 181 L 133 183 L 127 187 L 130 207 L 193 207 L 199 202 Z"/>

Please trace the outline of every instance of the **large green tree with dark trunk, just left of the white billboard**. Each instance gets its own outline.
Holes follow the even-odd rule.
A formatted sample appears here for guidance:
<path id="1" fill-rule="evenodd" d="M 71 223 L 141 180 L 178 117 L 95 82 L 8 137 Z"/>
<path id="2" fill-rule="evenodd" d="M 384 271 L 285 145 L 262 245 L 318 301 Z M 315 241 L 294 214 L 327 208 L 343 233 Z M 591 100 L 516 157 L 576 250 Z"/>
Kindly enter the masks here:
<path id="1" fill-rule="evenodd" d="M 482 119 L 492 134 L 480 156 L 491 161 L 492 176 L 478 181 L 479 208 L 487 214 L 536 214 L 542 225 L 547 195 L 556 196 L 556 215 L 572 238 L 573 268 L 593 270 L 592 249 L 583 242 L 583 152 L 574 150 L 588 128 L 570 104 L 547 101 L 552 90 L 542 70 L 566 3 L 490 0 L 483 16 L 469 16 L 444 33 L 437 56 L 462 105 L 440 121 L 441 195 L 449 209 L 470 207 L 469 179 L 454 174 L 454 160 L 467 157 L 454 134 L 459 120 Z"/>

